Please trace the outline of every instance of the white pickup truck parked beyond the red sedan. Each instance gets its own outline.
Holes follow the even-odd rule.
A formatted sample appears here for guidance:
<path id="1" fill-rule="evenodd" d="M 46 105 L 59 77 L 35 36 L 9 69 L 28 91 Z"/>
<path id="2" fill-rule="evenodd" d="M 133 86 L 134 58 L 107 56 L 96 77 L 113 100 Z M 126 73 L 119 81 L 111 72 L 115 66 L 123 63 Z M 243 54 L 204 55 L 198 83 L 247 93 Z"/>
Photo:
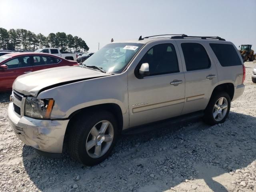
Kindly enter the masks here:
<path id="1" fill-rule="evenodd" d="M 43 49 L 38 49 L 35 52 L 50 53 L 50 54 L 62 57 L 64 59 L 73 60 L 73 61 L 76 61 L 76 59 L 78 57 L 78 55 L 76 53 L 71 53 L 71 52 L 62 52 L 62 53 L 60 53 L 60 49 L 58 49 L 58 48 L 43 48 Z"/>

